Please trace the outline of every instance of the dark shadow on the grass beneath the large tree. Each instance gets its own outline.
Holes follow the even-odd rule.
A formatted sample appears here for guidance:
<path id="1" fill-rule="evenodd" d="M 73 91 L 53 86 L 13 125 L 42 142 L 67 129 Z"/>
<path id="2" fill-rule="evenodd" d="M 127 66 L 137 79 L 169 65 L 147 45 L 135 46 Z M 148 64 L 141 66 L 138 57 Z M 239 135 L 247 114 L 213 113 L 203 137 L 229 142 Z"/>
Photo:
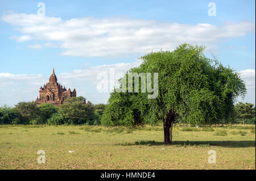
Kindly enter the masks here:
<path id="1" fill-rule="evenodd" d="M 136 141 L 134 143 L 123 143 L 118 144 L 122 146 L 131 145 L 147 145 L 147 146 L 164 146 L 164 142 L 155 141 Z M 255 141 L 174 141 L 171 145 L 174 146 L 223 146 L 228 148 L 245 148 L 245 147 L 255 147 Z"/>

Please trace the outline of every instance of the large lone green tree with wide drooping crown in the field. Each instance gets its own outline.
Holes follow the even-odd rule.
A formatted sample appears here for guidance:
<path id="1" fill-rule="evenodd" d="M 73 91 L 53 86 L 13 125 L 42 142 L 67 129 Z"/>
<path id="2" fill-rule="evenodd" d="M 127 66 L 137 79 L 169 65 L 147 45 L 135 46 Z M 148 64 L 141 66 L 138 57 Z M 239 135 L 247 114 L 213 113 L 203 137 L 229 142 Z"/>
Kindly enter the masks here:
<path id="1" fill-rule="evenodd" d="M 129 73 L 158 73 L 158 95 L 148 99 L 146 92 L 110 94 L 102 115 L 105 125 L 139 125 L 163 122 L 164 142 L 171 144 L 174 123 L 216 124 L 233 119 L 234 102 L 246 93 L 245 82 L 231 68 L 205 57 L 204 47 L 182 44 L 174 51 L 151 52 Z M 142 78 L 140 78 L 142 80 Z M 146 77 L 150 81 L 150 77 Z M 142 90 L 142 81 L 139 90 Z M 152 86 L 152 85 L 151 85 Z M 133 80 L 134 87 L 134 80 Z M 122 89 L 122 86 L 119 86 Z M 151 87 L 152 88 L 152 87 Z"/>

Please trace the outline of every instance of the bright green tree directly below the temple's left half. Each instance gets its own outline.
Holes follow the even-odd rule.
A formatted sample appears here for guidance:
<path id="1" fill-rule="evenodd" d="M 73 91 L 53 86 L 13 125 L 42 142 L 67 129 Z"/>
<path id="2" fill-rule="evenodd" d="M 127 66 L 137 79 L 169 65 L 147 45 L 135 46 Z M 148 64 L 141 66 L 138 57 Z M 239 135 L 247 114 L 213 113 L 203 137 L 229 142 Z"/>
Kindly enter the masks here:
<path id="1" fill-rule="evenodd" d="M 49 119 L 53 113 L 57 113 L 58 108 L 49 103 L 40 104 L 38 106 L 38 120 L 40 124 L 47 123 L 47 119 Z"/>

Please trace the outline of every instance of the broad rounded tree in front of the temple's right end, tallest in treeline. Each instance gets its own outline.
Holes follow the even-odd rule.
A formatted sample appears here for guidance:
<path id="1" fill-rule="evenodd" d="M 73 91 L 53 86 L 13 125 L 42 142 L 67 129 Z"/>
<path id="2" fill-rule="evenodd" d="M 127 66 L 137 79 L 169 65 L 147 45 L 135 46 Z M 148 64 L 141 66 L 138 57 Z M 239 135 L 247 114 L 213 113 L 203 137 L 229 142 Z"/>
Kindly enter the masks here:
<path id="1" fill-rule="evenodd" d="M 68 124 L 85 124 L 91 121 L 94 115 L 92 104 L 86 104 L 86 99 L 82 96 L 69 98 L 59 107 L 59 114 L 64 117 Z"/>

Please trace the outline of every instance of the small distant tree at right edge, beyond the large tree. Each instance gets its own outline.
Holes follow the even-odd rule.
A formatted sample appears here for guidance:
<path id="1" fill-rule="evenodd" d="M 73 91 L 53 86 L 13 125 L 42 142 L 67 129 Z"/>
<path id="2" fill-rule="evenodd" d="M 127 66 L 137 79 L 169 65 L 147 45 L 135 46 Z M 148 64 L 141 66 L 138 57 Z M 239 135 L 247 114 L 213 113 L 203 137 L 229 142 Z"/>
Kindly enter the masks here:
<path id="1" fill-rule="evenodd" d="M 236 104 L 236 113 L 239 119 L 242 119 L 243 126 L 245 126 L 245 119 L 255 117 L 255 106 L 251 103 L 239 102 Z"/>

